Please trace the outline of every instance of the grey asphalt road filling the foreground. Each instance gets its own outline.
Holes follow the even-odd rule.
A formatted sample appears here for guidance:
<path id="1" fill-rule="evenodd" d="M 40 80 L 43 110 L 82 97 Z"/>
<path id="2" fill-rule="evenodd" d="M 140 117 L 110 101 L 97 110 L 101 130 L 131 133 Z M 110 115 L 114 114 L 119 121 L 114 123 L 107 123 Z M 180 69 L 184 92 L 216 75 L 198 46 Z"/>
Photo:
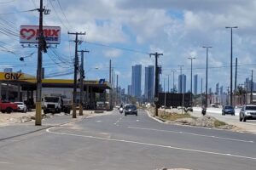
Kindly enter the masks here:
<path id="1" fill-rule="evenodd" d="M 0 140 L 0 167 L 254 170 L 255 143 L 256 136 L 249 133 L 166 125 L 149 118 L 145 111 L 138 116 L 113 111 Z"/>

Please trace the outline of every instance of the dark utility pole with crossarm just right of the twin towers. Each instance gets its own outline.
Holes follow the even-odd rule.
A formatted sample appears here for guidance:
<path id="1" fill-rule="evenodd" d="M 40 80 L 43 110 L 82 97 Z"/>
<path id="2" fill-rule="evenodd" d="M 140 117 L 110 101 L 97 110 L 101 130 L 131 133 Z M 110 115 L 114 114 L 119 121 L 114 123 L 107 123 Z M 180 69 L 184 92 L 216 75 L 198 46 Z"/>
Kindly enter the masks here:
<path id="1" fill-rule="evenodd" d="M 159 54 L 159 53 L 154 53 L 154 54 L 149 54 L 149 56 L 151 57 L 151 55 L 154 55 L 155 58 L 155 74 L 154 74 L 154 109 L 155 109 L 155 116 L 158 116 L 158 106 L 159 106 L 159 67 L 158 67 L 158 63 L 157 63 L 157 59 L 160 55 L 163 54 Z"/>

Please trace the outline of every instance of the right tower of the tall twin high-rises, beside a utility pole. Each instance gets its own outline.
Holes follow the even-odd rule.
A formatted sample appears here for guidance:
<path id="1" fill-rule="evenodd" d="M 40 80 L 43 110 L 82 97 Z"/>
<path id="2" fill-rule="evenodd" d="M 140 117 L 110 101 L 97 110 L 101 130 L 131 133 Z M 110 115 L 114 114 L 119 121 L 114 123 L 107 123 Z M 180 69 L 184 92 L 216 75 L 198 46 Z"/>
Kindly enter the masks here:
<path id="1" fill-rule="evenodd" d="M 144 96 L 146 101 L 153 102 L 154 99 L 154 65 L 145 67 Z"/>

